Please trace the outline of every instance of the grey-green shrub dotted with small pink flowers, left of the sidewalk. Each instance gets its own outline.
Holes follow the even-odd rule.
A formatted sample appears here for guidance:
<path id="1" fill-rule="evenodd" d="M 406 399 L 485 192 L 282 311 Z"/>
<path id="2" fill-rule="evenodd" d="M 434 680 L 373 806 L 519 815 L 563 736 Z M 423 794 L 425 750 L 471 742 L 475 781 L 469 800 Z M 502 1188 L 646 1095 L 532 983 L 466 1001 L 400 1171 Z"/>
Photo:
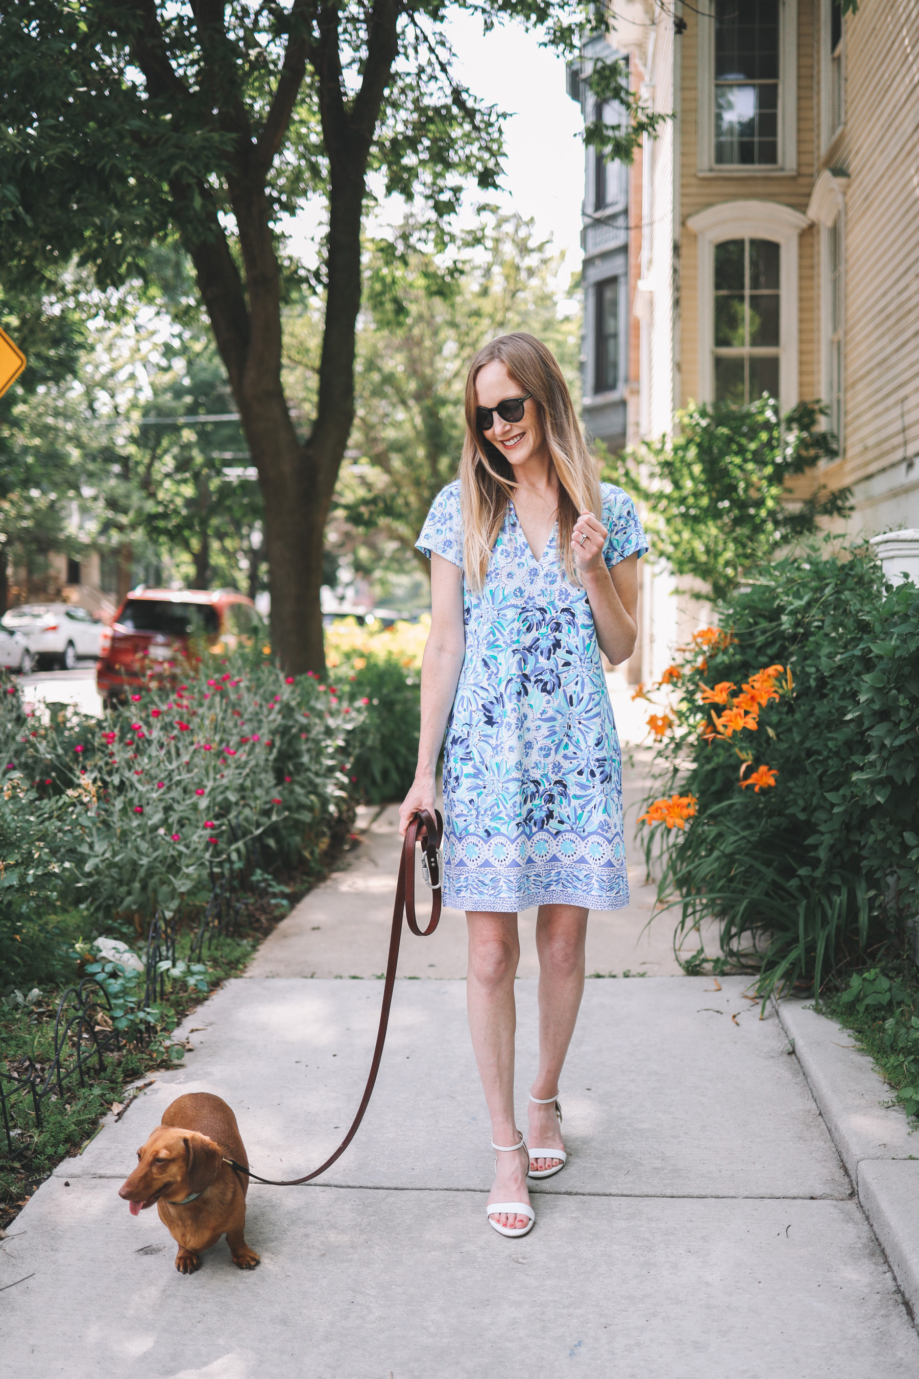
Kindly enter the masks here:
<path id="1" fill-rule="evenodd" d="M 316 677 L 267 663 L 236 673 L 226 659 L 179 684 L 150 677 L 102 721 L 63 710 L 41 721 L 3 695 L 3 826 L 36 832 L 29 867 L 17 860 L 0 889 L 0 931 L 56 899 L 142 932 L 157 909 L 204 905 L 219 877 L 318 869 L 351 826 L 361 723 L 361 706 Z"/>

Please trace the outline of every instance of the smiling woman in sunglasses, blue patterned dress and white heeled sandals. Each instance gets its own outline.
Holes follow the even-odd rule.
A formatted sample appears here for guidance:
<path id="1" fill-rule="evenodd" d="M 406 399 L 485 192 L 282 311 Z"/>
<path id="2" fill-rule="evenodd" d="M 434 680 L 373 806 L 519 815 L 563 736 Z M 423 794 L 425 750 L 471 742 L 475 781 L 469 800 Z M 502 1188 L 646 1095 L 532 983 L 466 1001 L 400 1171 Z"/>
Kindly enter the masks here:
<path id="1" fill-rule="evenodd" d="M 488 1220 L 533 1226 L 526 1178 L 565 1164 L 558 1081 L 584 990 L 588 909 L 628 903 L 619 739 L 599 659 L 635 645 L 631 499 L 598 484 L 555 359 L 532 335 L 479 350 L 459 481 L 434 501 L 422 729 L 401 832 L 434 812 L 444 734 L 444 905 L 468 923 L 468 1023 L 497 1150 Z M 449 721 L 448 721 L 449 720 Z M 539 906 L 539 1071 L 514 1120 L 517 912 Z"/>

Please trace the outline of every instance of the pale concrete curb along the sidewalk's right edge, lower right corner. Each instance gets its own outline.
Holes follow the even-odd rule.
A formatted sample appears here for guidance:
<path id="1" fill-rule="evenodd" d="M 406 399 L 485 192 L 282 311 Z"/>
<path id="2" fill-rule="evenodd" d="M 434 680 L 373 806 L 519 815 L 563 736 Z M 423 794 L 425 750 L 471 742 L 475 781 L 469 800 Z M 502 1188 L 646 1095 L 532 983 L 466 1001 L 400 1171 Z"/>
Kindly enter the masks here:
<path id="1" fill-rule="evenodd" d="M 868 1054 L 835 1020 L 801 1001 L 773 1001 L 858 1202 L 919 1317 L 919 1136 Z"/>

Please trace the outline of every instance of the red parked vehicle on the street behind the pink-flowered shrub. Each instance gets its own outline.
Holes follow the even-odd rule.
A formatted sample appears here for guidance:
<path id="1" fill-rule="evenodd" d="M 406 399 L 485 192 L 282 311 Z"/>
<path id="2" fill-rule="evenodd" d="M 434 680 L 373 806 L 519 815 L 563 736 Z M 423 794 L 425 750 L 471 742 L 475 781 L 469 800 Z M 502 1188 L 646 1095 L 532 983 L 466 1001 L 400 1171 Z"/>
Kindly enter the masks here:
<path id="1" fill-rule="evenodd" d="M 102 633 L 99 694 L 124 694 L 147 670 L 187 655 L 193 640 L 233 651 L 266 630 L 252 600 L 236 589 L 132 589 Z"/>

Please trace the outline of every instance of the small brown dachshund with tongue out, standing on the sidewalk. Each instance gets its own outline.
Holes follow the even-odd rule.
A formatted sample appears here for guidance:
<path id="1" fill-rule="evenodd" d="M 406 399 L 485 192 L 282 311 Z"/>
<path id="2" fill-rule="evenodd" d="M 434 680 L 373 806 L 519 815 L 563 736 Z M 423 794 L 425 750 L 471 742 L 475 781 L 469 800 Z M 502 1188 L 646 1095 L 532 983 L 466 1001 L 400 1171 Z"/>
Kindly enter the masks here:
<path id="1" fill-rule="evenodd" d="M 223 1234 L 237 1269 L 259 1263 L 242 1238 L 249 1180 L 225 1164 L 225 1156 L 249 1167 L 236 1116 L 219 1096 L 190 1092 L 167 1106 L 163 1123 L 138 1150 L 138 1167 L 118 1189 L 132 1216 L 156 1202 L 179 1247 L 180 1274 L 193 1274 L 201 1251 Z"/>

